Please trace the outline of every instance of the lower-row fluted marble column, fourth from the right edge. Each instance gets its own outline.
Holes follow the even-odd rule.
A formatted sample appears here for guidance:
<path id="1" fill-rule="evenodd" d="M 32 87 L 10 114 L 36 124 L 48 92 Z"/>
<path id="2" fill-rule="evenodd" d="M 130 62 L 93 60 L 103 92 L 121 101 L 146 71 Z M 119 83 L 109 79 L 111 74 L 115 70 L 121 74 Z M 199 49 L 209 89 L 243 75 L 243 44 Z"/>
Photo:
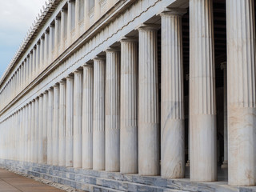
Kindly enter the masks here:
<path id="1" fill-rule="evenodd" d="M 141 26 L 138 62 L 138 174 L 159 174 L 158 28 Z"/>

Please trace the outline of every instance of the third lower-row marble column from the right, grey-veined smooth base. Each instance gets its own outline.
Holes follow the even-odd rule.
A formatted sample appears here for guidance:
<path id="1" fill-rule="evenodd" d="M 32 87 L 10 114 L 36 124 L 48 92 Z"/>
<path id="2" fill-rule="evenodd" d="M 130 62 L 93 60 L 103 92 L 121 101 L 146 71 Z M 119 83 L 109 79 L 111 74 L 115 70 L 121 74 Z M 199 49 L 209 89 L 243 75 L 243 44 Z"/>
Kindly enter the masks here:
<path id="1" fill-rule="evenodd" d="M 185 12 L 185 11 L 184 11 Z M 182 13 L 166 10 L 162 18 L 161 175 L 185 176 Z"/>

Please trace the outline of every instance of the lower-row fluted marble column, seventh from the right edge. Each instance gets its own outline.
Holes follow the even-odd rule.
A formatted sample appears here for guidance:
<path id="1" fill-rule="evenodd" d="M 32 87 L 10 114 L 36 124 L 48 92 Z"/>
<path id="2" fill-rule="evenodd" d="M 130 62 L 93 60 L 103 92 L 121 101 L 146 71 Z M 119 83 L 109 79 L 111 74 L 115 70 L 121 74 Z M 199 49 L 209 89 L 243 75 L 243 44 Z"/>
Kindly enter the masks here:
<path id="1" fill-rule="evenodd" d="M 94 170 L 105 170 L 105 81 L 105 59 L 94 58 Z"/>

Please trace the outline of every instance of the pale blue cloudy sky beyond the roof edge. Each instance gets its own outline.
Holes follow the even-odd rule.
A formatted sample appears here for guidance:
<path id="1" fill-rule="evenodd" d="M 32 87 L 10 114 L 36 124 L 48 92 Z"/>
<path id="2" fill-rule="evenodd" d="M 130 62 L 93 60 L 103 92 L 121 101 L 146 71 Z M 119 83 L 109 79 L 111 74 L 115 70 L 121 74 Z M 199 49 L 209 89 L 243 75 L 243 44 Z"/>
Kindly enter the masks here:
<path id="1" fill-rule="evenodd" d="M 0 0 L 0 78 L 45 2 L 46 0 Z"/>

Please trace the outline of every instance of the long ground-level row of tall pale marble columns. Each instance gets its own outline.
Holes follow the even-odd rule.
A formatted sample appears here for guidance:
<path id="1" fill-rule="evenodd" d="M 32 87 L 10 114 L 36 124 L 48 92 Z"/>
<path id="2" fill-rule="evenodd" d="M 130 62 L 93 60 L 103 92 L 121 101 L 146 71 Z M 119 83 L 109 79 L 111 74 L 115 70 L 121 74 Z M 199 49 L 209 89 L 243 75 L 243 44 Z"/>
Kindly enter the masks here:
<path id="1" fill-rule="evenodd" d="M 254 1 L 226 1 L 226 12 L 229 184 L 254 186 Z M 103 50 L 93 63 L 84 63 L 11 114 L 0 124 L 1 158 L 184 178 L 185 13 L 165 9 L 161 26 L 142 24 L 138 38 L 123 37 L 120 47 Z M 190 0 L 190 180 L 195 182 L 217 180 L 213 34 L 213 2 Z"/>

